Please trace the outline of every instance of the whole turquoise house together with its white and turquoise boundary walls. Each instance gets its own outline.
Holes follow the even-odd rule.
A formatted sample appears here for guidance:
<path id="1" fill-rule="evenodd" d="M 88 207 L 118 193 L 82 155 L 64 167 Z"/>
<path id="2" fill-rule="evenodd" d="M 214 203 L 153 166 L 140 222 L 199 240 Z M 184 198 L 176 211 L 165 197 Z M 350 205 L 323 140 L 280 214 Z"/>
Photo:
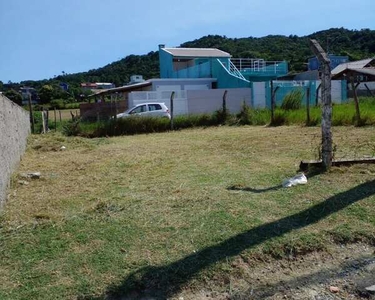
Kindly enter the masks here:
<path id="1" fill-rule="evenodd" d="M 271 106 L 271 80 L 278 87 L 276 103 L 295 89 L 303 89 L 304 100 L 319 100 L 319 80 L 278 81 L 288 73 L 285 61 L 265 61 L 256 58 L 233 58 L 229 53 L 215 48 L 167 48 L 159 45 L 160 78 L 143 80 L 133 75 L 123 87 L 97 91 L 97 104 L 92 107 L 108 107 L 107 115 L 144 102 L 164 102 L 170 107 L 174 95 L 174 114 L 212 113 L 222 105 L 224 94 L 228 109 L 236 113 L 245 102 L 253 107 Z M 333 84 L 335 102 L 341 103 L 346 96 L 342 83 Z M 309 95 L 309 97 L 308 97 Z M 105 98 L 107 100 L 103 104 Z M 81 105 L 81 116 L 88 111 L 94 117 L 99 109 Z M 100 110 L 102 111 L 102 110 Z M 89 115 L 89 113 L 87 113 Z"/>

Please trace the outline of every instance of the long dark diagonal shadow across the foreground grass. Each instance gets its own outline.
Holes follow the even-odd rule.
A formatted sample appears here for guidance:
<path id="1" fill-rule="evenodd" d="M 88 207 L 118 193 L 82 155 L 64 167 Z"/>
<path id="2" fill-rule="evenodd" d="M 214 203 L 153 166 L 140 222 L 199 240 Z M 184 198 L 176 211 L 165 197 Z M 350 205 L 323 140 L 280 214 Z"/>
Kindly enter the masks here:
<path id="1" fill-rule="evenodd" d="M 152 296 L 152 299 L 170 298 L 201 270 L 265 241 L 317 223 L 373 194 L 375 180 L 332 196 L 297 214 L 252 228 L 168 265 L 145 267 L 130 274 L 119 285 L 109 286 L 106 295 L 83 299 L 139 299 L 147 295 Z"/>

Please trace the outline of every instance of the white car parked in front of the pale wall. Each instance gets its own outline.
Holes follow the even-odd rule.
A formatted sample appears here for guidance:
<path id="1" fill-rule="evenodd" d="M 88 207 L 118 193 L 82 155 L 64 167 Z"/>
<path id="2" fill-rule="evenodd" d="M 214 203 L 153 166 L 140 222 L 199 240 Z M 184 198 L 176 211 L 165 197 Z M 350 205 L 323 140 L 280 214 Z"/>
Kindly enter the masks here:
<path id="1" fill-rule="evenodd" d="M 168 107 L 165 105 L 165 103 L 159 102 L 138 104 L 132 108 L 129 108 L 127 111 L 118 114 L 117 118 L 127 118 L 130 116 L 171 118 Z"/>

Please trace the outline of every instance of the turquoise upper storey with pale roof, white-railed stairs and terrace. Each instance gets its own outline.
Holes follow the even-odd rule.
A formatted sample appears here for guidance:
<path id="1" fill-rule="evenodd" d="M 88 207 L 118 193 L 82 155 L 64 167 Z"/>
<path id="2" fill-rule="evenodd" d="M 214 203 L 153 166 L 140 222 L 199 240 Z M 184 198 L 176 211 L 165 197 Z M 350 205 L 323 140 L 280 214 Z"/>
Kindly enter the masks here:
<path id="1" fill-rule="evenodd" d="M 232 58 L 215 48 L 166 48 L 159 45 L 160 78 L 214 78 L 213 88 L 245 88 L 288 73 L 286 61 Z"/>

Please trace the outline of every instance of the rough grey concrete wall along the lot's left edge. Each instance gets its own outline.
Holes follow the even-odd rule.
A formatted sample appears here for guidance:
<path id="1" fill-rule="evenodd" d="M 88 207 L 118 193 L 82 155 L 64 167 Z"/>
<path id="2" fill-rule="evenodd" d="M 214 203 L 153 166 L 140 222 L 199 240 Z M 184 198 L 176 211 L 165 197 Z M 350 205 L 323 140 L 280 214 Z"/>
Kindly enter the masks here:
<path id="1" fill-rule="evenodd" d="M 26 149 L 30 133 L 29 113 L 0 94 L 0 207 L 9 179 Z"/>

